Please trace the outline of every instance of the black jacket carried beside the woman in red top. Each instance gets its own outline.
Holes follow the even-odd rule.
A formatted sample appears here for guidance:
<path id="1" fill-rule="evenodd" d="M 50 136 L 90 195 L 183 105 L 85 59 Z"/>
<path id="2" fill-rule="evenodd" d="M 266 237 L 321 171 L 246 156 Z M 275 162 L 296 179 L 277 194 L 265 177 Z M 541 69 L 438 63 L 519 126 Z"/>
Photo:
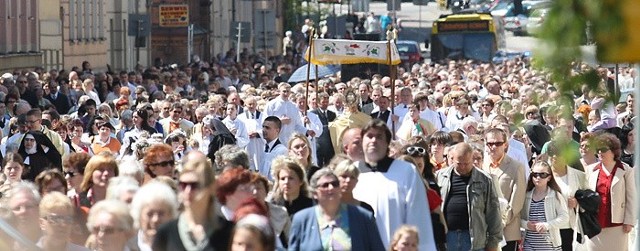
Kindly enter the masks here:
<path id="1" fill-rule="evenodd" d="M 582 226 L 582 234 L 592 238 L 602 231 L 598 222 L 598 208 L 602 200 L 600 194 L 591 189 L 580 189 L 576 191 L 575 198 L 580 205 L 578 217 Z"/>

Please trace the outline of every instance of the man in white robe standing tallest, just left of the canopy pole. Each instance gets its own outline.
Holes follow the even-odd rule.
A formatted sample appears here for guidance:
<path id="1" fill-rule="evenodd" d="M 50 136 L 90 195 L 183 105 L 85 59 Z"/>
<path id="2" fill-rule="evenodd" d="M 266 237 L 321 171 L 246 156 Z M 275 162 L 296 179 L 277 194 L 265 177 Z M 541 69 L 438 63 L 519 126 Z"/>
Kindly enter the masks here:
<path id="1" fill-rule="evenodd" d="M 281 142 L 286 144 L 286 142 L 289 142 L 291 135 L 296 132 L 305 135 L 307 128 L 302 124 L 298 107 L 289 101 L 291 85 L 281 83 L 278 85 L 278 91 L 280 91 L 280 95 L 267 103 L 263 117 L 276 116 L 280 119 L 282 122 L 282 130 L 280 131 L 279 138 Z"/>

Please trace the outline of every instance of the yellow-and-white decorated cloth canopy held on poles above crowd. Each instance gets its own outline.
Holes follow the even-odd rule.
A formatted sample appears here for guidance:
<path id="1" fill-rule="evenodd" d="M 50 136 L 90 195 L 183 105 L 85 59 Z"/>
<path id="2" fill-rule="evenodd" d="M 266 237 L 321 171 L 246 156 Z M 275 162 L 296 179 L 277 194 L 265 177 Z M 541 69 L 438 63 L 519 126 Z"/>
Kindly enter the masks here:
<path id="1" fill-rule="evenodd" d="M 388 50 L 387 48 L 391 48 Z M 390 45 L 387 41 L 361 41 L 343 39 L 314 39 L 312 48 L 307 48 L 305 59 L 311 55 L 311 63 L 316 65 L 329 64 L 360 64 L 375 63 L 400 64 L 400 55 L 395 43 Z"/>

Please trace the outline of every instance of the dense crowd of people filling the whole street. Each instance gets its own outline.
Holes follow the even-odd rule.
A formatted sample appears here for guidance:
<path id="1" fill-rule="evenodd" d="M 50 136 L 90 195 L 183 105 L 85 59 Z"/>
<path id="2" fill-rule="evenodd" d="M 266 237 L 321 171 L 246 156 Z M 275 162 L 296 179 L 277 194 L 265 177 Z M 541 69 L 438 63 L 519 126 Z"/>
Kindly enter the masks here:
<path id="1" fill-rule="evenodd" d="M 227 55 L 2 75 L 0 249 L 627 250 L 635 241 L 634 96 L 611 101 L 607 68 L 596 69 L 598 88 L 575 93 L 559 93 L 525 58 L 306 86 L 287 83 L 291 55 Z M 633 69 L 621 72 L 633 83 Z M 589 189 L 595 212 L 577 195 Z"/>

